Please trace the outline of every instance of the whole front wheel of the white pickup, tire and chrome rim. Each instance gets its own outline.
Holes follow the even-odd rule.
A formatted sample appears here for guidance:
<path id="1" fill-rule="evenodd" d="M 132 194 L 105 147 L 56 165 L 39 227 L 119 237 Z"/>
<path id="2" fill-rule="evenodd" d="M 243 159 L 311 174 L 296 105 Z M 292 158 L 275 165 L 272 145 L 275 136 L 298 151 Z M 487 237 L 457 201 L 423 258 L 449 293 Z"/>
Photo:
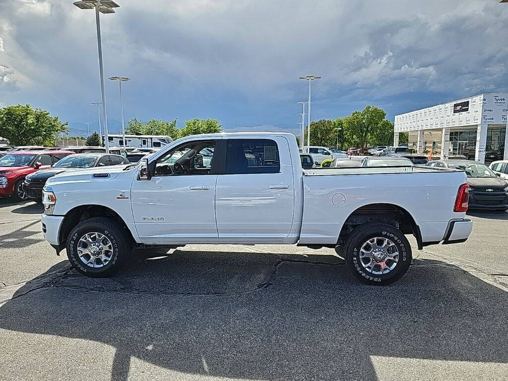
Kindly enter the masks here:
<path id="1" fill-rule="evenodd" d="M 132 244 L 110 218 L 94 217 L 76 225 L 67 239 L 67 257 L 81 274 L 110 276 L 129 262 Z"/>

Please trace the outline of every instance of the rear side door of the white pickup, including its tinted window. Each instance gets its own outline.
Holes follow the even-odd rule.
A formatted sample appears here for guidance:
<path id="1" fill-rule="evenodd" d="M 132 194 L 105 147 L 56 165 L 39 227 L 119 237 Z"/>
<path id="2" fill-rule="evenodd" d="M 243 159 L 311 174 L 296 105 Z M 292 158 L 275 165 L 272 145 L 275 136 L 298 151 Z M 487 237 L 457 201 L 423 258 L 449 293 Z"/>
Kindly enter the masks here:
<path id="1" fill-rule="evenodd" d="M 218 175 L 215 190 L 219 239 L 276 241 L 289 236 L 295 189 L 288 141 L 238 137 L 225 146 L 224 174 Z"/>

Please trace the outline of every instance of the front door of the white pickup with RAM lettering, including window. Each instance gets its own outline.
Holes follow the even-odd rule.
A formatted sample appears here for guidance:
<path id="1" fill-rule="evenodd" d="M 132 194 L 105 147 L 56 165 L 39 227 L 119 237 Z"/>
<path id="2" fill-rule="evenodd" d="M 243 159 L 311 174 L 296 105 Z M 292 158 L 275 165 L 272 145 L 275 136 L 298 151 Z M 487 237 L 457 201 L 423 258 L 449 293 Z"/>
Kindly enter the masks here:
<path id="1" fill-rule="evenodd" d="M 216 239 L 214 162 L 220 139 L 195 139 L 155 161 L 154 176 L 134 179 L 132 210 L 145 243 L 207 242 Z M 203 160 L 203 154 L 208 160 Z"/>

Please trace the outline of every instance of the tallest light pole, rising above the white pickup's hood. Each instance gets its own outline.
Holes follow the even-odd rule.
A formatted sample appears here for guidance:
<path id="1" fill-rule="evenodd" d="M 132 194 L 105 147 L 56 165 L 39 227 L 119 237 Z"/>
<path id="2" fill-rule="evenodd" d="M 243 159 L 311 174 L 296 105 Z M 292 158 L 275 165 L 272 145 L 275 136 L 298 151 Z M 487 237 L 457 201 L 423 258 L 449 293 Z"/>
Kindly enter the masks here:
<path id="1" fill-rule="evenodd" d="M 97 46 L 99 48 L 99 72 L 101 75 L 101 96 L 102 96 L 102 115 L 104 119 L 104 142 L 106 145 L 106 153 L 109 153 L 109 139 L 108 139 L 108 115 L 106 112 L 106 93 L 104 91 L 104 68 L 102 63 L 102 42 L 101 42 L 101 22 L 99 19 L 99 12 L 101 13 L 115 13 L 113 8 L 118 8 L 119 5 L 112 0 L 83 0 L 74 3 L 80 9 L 95 9 L 96 11 L 96 24 L 97 24 Z"/>

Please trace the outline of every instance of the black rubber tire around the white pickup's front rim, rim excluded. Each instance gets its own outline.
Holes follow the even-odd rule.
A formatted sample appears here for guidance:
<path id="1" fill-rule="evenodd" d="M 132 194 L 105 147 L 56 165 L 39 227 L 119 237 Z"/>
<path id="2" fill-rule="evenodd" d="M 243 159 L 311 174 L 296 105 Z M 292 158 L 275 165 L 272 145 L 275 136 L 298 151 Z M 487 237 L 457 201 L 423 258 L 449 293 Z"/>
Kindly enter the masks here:
<path id="1" fill-rule="evenodd" d="M 78 243 L 87 233 L 99 233 L 111 243 L 110 260 L 104 265 L 99 263 L 101 267 L 90 267 L 79 257 Z M 72 267 L 93 278 L 107 277 L 118 271 L 130 261 L 132 250 L 132 242 L 123 233 L 122 227 L 115 220 L 105 217 L 93 217 L 80 222 L 67 239 L 67 257 Z"/>

